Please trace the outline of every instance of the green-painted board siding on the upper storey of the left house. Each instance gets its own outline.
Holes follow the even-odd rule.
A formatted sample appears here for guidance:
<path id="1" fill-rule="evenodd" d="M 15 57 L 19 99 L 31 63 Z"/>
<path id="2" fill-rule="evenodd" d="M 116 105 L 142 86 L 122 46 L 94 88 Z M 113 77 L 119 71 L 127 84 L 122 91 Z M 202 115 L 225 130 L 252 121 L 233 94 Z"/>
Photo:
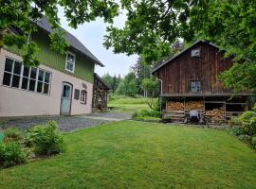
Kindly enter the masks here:
<path id="1" fill-rule="evenodd" d="M 36 42 L 40 48 L 38 53 L 38 60 L 55 70 L 59 70 L 66 75 L 78 77 L 82 80 L 93 83 L 94 79 L 94 66 L 95 63 L 92 60 L 89 60 L 81 53 L 75 51 L 73 48 L 69 48 L 68 51 L 76 55 L 76 67 L 75 73 L 70 73 L 65 71 L 65 58 L 66 55 L 62 55 L 52 49 L 50 49 L 50 41 L 48 38 L 48 33 L 42 29 L 38 29 L 36 34 L 33 34 L 32 40 Z M 10 52 L 21 55 L 22 51 L 16 47 L 6 47 Z"/>

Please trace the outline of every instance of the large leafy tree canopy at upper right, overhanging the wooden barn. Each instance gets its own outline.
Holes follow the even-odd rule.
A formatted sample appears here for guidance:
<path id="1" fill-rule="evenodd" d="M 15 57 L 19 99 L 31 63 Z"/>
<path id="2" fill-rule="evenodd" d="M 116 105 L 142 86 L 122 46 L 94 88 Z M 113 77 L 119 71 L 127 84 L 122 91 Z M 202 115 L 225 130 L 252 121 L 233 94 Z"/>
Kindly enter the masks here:
<path id="1" fill-rule="evenodd" d="M 241 0 L 121 1 L 127 9 L 123 28 L 109 26 L 104 45 L 116 53 L 142 55 L 148 63 L 170 54 L 183 39 L 205 39 L 236 62 L 219 77 L 235 92 L 256 93 L 256 3 Z M 245 73 L 251 75 L 244 76 Z M 240 78 L 240 79 L 237 79 Z"/>

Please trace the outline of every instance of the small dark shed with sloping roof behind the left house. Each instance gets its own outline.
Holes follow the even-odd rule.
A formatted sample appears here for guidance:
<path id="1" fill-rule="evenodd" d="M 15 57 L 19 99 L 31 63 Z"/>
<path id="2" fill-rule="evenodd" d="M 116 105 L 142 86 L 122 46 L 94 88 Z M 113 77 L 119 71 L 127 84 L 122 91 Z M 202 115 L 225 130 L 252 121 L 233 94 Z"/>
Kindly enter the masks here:
<path id="1" fill-rule="evenodd" d="M 94 74 L 93 85 L 93 112 L 106 112 L 107 101 L 110 87 L 104 82 L 104 80 L 98 75 Z"/>

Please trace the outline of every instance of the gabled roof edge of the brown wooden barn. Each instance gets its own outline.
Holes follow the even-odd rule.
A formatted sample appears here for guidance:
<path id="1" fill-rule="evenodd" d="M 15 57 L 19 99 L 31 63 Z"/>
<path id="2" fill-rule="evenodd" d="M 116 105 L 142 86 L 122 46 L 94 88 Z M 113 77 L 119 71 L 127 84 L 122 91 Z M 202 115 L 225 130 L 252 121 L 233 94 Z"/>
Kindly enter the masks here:
<path id="1" fill-rule="evenodd" d="M 189 47 L 183 49 L 182 51 L 180 51 L 178 54 L 174 55 L 174 57 L 169 57 L 167 60 L 161 60 L 162 62 L 160 62 L 157 66 L 155 66 L 155 68 L 153 68 L 152 70 L 152 74 L 154 74 L 158 69 L 160 69 L 161 67 L 163 67 L 164 65 L 166 65 L 167 63 L 171 62 L 172 60 L 176 59 L 177 57 L 181 56 L 183 53 L 185 53 L 186 51 L 190 50 L 195 44 L 197 43 L 207 43 L 215 48 L 219 48 L 216 44 L 213 43 L 209 43 L 206 42 L 204 40 L 198 40 L 195 43 L 192 43 L 192 45 L 190 45 Z"/>

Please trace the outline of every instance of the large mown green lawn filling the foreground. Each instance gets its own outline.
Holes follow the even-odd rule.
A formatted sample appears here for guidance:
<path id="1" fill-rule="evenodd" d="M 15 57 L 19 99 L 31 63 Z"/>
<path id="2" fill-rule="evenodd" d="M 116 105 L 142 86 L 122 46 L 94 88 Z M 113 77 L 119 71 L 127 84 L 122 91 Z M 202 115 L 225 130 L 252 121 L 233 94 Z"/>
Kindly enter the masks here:
<path id="1" fill-rule="evenodd" d="M 122 121 L 64 134 L 65 153 L 0 188 L 255 188 L 256 153 L 225 130 Z"/>

